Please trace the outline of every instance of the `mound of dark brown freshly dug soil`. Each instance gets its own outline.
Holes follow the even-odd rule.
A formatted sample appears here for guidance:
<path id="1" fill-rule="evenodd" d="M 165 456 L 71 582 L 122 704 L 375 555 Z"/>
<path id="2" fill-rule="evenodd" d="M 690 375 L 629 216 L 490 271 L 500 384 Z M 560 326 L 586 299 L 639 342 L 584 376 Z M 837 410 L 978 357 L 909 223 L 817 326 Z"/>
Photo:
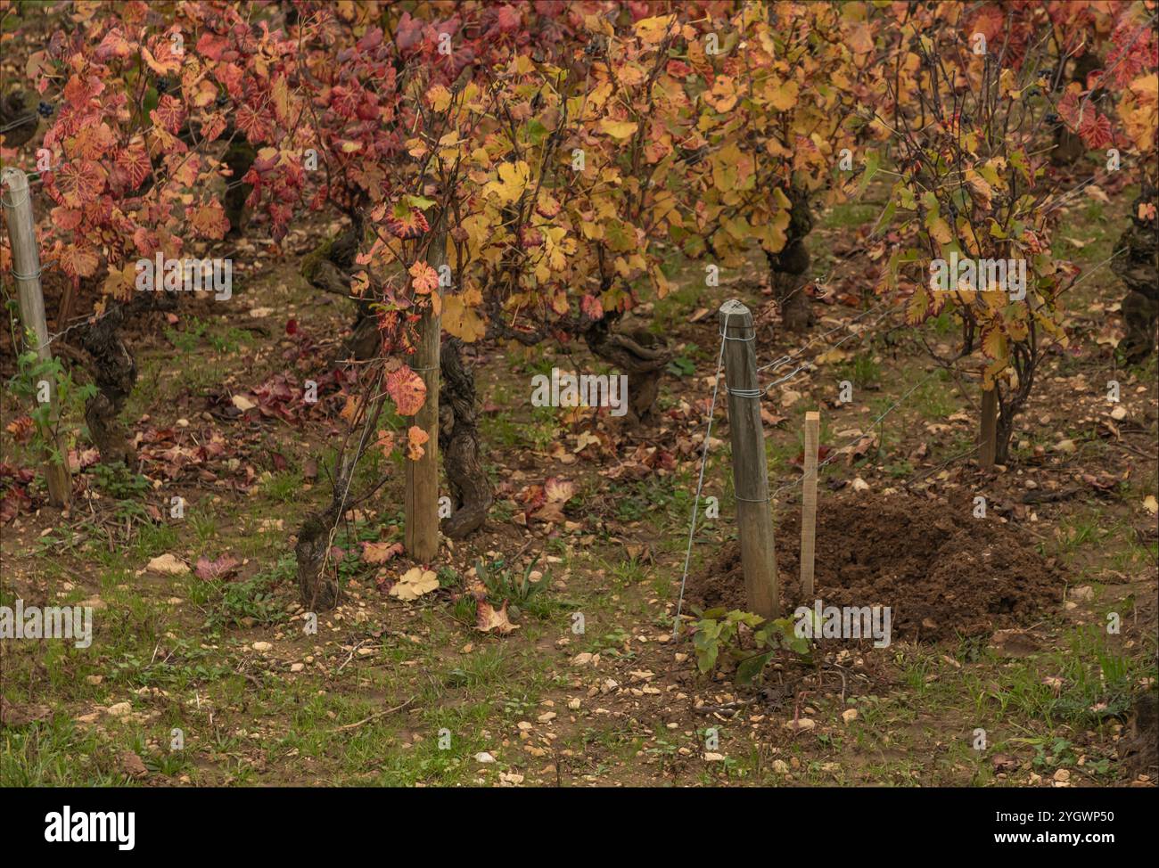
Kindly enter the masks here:
<path id="1" fill-rule="evenodd" d="M 1033 538 L 968 503 L 918 496 L 822 498 L 814 599 L 800 588 L 800 508 L 775 525 L 781 608 L 890 606 L 892 641 L 936 642 L 1027 623 L 1062 601 L 1063 576 Z M 688 577 L 685 599 L 701 610 L 748 608 L 741 549 Z"/>

